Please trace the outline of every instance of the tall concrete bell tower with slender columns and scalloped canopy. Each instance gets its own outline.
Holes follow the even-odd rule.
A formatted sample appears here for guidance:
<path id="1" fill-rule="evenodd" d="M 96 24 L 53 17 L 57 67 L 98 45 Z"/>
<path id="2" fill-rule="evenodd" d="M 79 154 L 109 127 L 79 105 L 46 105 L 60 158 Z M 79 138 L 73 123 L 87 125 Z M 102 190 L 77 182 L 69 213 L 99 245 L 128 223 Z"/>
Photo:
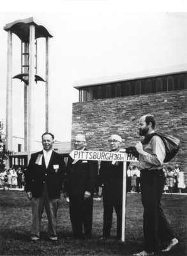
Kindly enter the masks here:
<path id="1" fill-rule="evenodd" d="M 12 150 L 12 78 L 24 82 L 24 148 L 28 161 L 34 143 L 34 83 L 45 82 L 45 129 L 49 131 L 49 38 L 52 37 L 45 26 L 38 24 L 33 17 L 15 20 L 4 26 L 8 33 L 7 75 L 6 75 L 6 149 Z M 21 41 L 21 72 L 13 76 L 12 34 Z M 45 38 L 45 80 L 37 74 L 38 38 Z"/>

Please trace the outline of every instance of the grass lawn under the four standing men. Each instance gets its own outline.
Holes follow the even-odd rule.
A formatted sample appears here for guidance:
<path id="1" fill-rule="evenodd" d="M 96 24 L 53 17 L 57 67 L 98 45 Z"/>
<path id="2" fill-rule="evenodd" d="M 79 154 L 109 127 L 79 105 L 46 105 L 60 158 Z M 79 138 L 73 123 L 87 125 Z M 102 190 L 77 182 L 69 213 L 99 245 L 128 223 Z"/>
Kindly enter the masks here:
<path id="1" fill-rule="evenodd" d="M 163 209 L 179 244 L 169 253 L 158 255 L 187 255 L 187 196 L 163 195 Z M 112 239 L 100 240 L 103 225 L 102 201 L 94 201 L 93 239 L 75 240 L 71 234 L 68 203 L 61 196 L 57 216 L 59 241 L 47 240 L 47 217 L 41 223 L 41 240 L 29 241 L 31 207 L 23 191 L 0 191 L 0 255 L 132 255 L 142 250 L 142 204 L 140 195 L 128 193 L 126 208 L 126 242 L 115 240 L 116 218 Z"/>

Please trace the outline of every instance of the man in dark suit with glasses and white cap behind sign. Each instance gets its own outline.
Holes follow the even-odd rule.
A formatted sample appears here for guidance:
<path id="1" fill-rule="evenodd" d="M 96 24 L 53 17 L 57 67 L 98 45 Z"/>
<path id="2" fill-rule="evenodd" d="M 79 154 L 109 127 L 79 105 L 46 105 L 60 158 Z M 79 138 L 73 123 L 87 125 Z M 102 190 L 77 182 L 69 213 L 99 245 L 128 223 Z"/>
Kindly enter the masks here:
<path id="1" fill-rule="evenodd" d="M 108 140 L 112 152 L 119 151 L 121 136 L 112 134 Z M 101 161 L 99 185 L 103 186 L 103 238 L 110 237 L 112 215 L 117 216 L 117 239 L 121 238 L 123 204 L 123 162 Z"/>

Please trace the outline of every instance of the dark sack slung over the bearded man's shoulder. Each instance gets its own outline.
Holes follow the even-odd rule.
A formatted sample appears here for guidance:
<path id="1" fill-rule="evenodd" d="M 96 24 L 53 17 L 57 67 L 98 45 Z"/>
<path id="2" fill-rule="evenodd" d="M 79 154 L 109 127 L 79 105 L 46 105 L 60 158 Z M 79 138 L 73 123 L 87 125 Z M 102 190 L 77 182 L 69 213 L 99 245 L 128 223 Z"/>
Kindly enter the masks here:
<path id="1" fill-rule="evenodd" d="M 172 158 L 174 158 L 174 156 L 176 156 L 180 147 L 180 140 L 175 138 L 174 136 L 170 136 L 160 132 L 154 132 L 147 136 L 148 138 L 146 138 L 146 143 L 148 143 L 154 135 L 159 136 L 165 145 L 165 159 L 163 160 L 163 162 L 167 163 Z"/>

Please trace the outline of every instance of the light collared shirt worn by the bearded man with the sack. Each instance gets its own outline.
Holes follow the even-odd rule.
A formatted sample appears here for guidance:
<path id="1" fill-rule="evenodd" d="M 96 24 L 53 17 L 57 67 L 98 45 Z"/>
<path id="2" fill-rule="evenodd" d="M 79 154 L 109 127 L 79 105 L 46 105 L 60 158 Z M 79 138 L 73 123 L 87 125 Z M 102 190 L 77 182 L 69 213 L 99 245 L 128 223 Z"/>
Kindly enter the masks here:
<path id="1" fill-rule="evenodd" d="M 159 136 L 153 136 L 149 143 L 143 145 L 143 150 L 147 154 L 145 156 L 140 154 L 138 157 L 138 168 L 140 170 L 160 170 L 163 168 L 165 145 Z"/>

